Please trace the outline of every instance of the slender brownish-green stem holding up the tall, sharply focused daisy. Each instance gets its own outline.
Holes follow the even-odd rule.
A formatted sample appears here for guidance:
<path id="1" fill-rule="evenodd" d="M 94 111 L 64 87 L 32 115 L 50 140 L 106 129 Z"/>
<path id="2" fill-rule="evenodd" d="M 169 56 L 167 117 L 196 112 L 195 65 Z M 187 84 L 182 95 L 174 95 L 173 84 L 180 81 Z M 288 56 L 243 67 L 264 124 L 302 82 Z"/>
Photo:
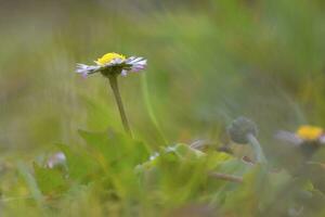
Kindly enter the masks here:
<path id="1" fill-rule="evenodd" d="M 129 122 L 128 122 L 128 118 L 127 118 L 127 115 L 126 115 L 126 112 L 125 112 L 125 107 L 123 107 L 121 97 L 120 97 L 120 92 L 119 92 L 119 88 L 118 88 L 117 75 L 115 75 L 115 74 L 109 75 L 108 79 L 109 79 L 109 85 L 110 85 L 110 88 L 113 90 L 114 98 L 115 98 L 115 101 L 116 101 L 116 104 L 117 104 L 117 107 L 118 107 L 118 111 L 119 111 L 119 114 L 120 114 L 120 118 L 121 118 L 123 128 L 125 128 L 126 132 L 132 137 L 130 125 L 129 125 Z"/>

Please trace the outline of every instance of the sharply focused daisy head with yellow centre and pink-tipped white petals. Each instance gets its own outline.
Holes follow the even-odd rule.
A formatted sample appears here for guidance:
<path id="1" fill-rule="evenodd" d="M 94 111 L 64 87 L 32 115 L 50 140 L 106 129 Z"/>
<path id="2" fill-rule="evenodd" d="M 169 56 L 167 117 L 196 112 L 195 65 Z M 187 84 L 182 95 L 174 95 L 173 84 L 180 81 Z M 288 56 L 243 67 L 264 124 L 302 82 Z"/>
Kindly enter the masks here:
<path id="1" fill-rule="evenodd" d="M 82 77 L 101 73 L 105 77 L 109 75 L 127 76 L 128 73 L 138 73 L 146 67 L 147 60 L 141 56 L 126 58 L 118 53 L 106 53 L 98 59 L 95 65 L 87 65 L 78 63 L 76 73 L 81 74 Z"/>

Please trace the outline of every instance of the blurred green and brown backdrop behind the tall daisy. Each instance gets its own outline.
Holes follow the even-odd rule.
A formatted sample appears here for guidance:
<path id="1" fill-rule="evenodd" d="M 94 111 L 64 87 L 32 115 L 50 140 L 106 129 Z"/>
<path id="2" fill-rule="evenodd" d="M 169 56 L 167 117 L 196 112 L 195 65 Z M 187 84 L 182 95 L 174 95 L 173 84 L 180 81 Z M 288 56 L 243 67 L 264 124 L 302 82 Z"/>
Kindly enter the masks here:
<path id="1" fill-rule="evenodd" d="M 1 1 L 1 152 L 122 131 L 107 80 L 74 72 L 114 51 L 148 60 L 119 79 L 135 138 L 219 142 L 245 115 L 272 156 L 276 130 L 325 125 L 324 10 L 322 0 Z"/>

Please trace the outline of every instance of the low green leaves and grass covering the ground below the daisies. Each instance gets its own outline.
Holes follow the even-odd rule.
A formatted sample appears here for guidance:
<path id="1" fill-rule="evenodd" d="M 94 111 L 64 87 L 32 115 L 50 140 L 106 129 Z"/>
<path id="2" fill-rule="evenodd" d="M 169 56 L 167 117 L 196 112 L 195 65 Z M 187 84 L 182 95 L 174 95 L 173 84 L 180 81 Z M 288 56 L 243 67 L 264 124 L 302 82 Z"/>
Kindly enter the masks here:
<path id="1" fill-rule="evenodd" d="M 191 203 L 218 207 L 221 215 L 250 217 L 299 213 L 303 203 L 325 201 L 309 179 L 296 181 L 284 170 L 223 152 L 202 152 L 185 143 L 153 152 L 143 142 L 114 131 L 80 130 L 79 135 L 82 145 L 57 145 L 66 158 L 53 168 L 34 163 L 31 175 L 20 164 L 36 210 L 55 216 L 165 216 Z M 240 177 L 243 181 L 237 181 Z M 93 209 L 83 210 L 82 204 L 93 204 Z M 73 207 L 69 214 L 62 209 L 67 206 Z M 5 206 L 8 213 L 10 207 Z"/>

